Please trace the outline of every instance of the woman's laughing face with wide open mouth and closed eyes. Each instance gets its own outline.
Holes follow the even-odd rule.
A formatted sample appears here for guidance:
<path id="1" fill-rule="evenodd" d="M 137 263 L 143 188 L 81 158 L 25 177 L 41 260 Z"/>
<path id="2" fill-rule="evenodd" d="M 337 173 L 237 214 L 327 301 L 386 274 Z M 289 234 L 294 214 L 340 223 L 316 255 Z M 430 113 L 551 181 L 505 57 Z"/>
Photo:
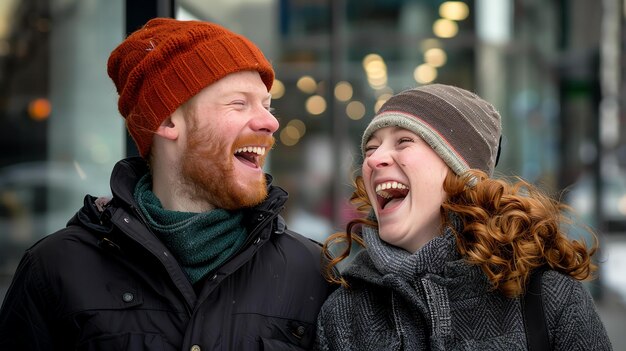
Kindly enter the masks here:
<path id="1" fill-rule="evenodd" d="M 415 252 L 439 234 L 446 194 L 446 163 L 417 134 L 399 127 L 377 130 L 365 145 L 365 189 L 380 238 Z"/>

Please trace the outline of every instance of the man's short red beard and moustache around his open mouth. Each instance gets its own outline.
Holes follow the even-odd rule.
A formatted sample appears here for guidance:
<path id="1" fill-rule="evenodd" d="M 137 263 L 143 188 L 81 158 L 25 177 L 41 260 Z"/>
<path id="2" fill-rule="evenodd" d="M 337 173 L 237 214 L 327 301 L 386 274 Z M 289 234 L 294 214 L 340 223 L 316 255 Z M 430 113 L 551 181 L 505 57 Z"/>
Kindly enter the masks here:
<path id="1" fill-rule="evenodd" d="M 187 150 L 181 161 L 181 175 L 186 186 L 190 187 L 192 199 L 206 201 L 217 208 L 236 210 L 258 205 L 267 197 L 265 175 L 247 184 L 237 184 L 235 179 L 234 153 L 248 145 L 266 145 L 266 152 L 274 144 L 274 138 L 267 135 L 251 135 L 235 140 L 228 145 L 220 135 L 212 131 L 199 131 L 195 125 L 189 128 Z M 259 157 L 259 167 L 265 156 Z"/>

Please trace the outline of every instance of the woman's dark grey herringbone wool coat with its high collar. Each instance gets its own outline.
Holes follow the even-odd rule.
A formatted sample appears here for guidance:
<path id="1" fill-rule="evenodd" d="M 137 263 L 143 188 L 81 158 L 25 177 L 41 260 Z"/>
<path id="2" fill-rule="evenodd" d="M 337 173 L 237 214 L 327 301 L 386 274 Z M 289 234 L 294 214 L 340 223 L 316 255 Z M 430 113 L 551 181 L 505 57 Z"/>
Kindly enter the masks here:
<path id="1" fill-rule="evenodd" d="M 519 298 L 490 289 L 448 232 L 415 254 L 365 228 L 367 250 L 343 276 L 318 316 L 318 350 L 526 350 Z M 556 271 L 542 279 L 552 350 L 611 350 L 594 302 L 577 280 Z"/>

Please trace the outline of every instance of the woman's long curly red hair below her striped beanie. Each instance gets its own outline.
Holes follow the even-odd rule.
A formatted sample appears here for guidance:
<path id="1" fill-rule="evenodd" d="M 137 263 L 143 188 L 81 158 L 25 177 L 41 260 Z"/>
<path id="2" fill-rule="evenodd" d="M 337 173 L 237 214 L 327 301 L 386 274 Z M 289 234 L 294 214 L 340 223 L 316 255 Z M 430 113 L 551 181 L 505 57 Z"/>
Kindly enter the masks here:
<path id="1" fill-rule="evenodd" d="M 350 200 L 358 210 L 369 213 L 371 204 L 362 177 L 354 183 Z M 443 188 L 448 197 L 441 206 L 442 228 L 454 228 L 450 219 L 460 219 L 462 229 L 455 233 L 458 251 L 470 264 L 480 266 L 493 289 L 505 296 L 522 294 L 530 273 L 541 266 L 578 280 L 589 279 L 597 269 L 591 260 L 598 248 L 597 236 L 585 227 L 594 240 L 591 248 L 568 237 L 565 228 L 573 210 L 527 181 L 494 179 L 471 170 L 464 176 L 450 172 Z M 376 226 L 367 217 L 355 219 L 345 233 L 331 235 L 324 243 L 325 275 L 330 282 L 348 286 L 335 267 L 348 257 L 352 241 L 364 245 L 355 230 L 363 224 Z M 330 246 L 338 242 L 347 245 L 334 257 Z"/>

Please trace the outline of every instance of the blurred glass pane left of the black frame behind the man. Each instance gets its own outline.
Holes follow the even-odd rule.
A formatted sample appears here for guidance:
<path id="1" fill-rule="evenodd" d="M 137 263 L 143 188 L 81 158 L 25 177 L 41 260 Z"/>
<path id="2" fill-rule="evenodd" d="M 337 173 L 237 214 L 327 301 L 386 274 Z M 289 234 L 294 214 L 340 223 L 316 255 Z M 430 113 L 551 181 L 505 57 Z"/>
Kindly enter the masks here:
<path id="1" fill-rule="evenodd" d="M 126 133 L 106 73 L 124 1 L 0 4 L 0 274 L 65 226 L 85 194 L 109 195 Z"/>

